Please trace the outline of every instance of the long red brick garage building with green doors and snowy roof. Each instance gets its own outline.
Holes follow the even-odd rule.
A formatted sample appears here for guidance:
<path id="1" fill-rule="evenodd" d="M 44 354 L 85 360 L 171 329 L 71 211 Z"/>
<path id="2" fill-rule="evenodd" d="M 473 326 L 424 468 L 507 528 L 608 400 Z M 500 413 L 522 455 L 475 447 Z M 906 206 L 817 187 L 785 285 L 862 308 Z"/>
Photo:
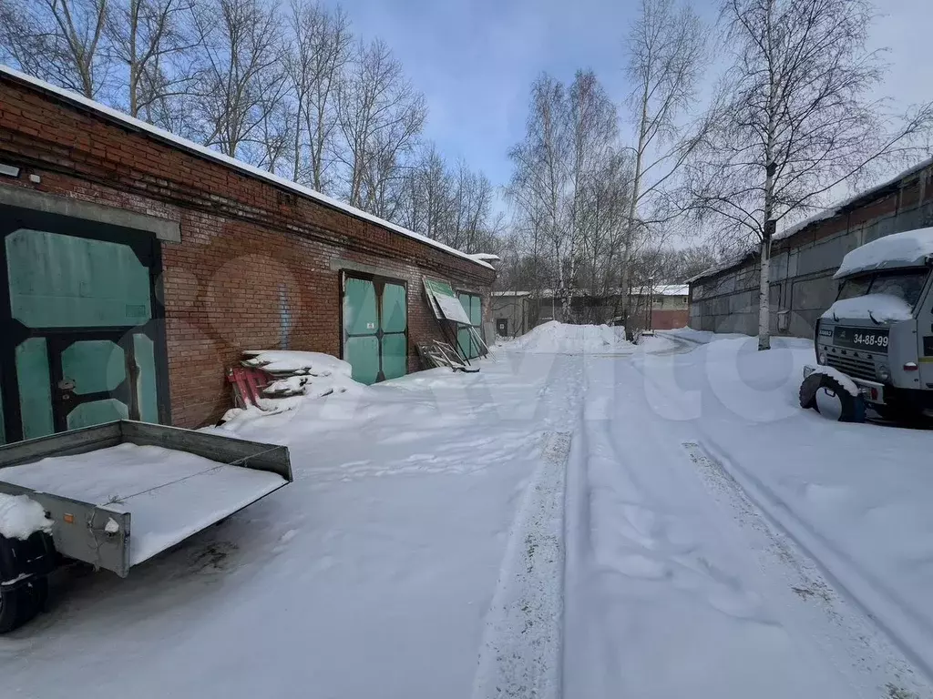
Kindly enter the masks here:
<path id="1" fill-rule="evenodd" d="M 379 366 L 394 366 L 386 373 L 415 371 L 414 343 L 442 337 L 423 279 L 471 295 L 476 316 L 495 276 L 6 68 L 0 236 L 0 442 L 121 412 L 214 422 L 230 407 L 225 369 L 244 349 L 340 357 L 375 346 Z M 348 288 L 377 322 L 344 318 Z M 380 323 L 394 327 L 371 327 Z M 383 330 L 395 332 L 391 352 Z"/>

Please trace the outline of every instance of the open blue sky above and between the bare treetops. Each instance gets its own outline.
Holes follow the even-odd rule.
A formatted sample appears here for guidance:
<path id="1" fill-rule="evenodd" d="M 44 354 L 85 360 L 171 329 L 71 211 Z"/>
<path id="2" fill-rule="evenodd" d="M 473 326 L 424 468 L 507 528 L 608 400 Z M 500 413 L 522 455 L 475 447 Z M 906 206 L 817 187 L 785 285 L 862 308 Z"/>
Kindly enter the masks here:
<path id="1" fill-rule="evenodd" d="M 931 0 L 886 0 L 872 31 L 891 48 L 884 93 L 933 99 Z M 465 158 L 494 185 L 508 182 L 507 152 L 522 137 L 528 89 L 542 71 L 569 81 L 592 68 L 621 102 L 628 91 L 622 41 L 633 0 L 344 0 L 355 33 L 381 36 L 425 93 L 425 136 L 450 160 Z M 694 3 L 715 18 L 717 3 Z M 712 79 L 712 75 L 710 76 Z M 625 128 L 625 124 L 622 125 Z"/>

